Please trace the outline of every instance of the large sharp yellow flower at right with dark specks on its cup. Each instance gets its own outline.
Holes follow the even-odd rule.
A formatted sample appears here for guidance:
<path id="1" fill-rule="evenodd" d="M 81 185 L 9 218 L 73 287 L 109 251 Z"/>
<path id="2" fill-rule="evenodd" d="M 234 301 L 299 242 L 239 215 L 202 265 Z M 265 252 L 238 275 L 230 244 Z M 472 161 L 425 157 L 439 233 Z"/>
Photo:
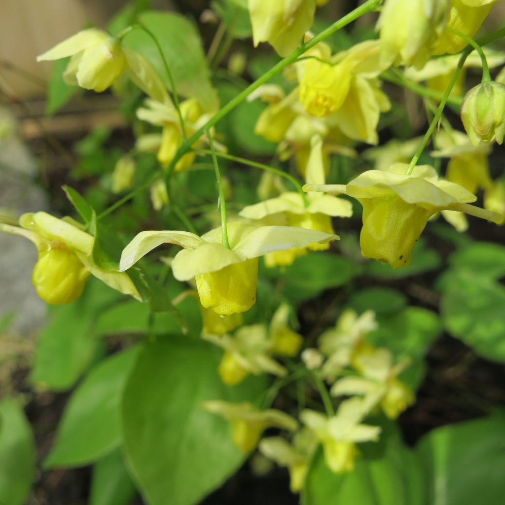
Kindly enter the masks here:
<path id="1" fill-rule="evenodd" d="M 306 184 L 304 189 L 356 198 L 363 206 L 363 256 L 393 268 L 410 264 L 414 244 L 437 212 L 460 211 L 496 224 L 503 221 L 499 214 L 469 205 L 476 196 L 458 184 L 439 180 L 433 167 L 417 166 L 412 175 L 405 175 L 407 169 L 407 164 L 397 163 L 389 172 L 364 172 L 347 185 Z"/>

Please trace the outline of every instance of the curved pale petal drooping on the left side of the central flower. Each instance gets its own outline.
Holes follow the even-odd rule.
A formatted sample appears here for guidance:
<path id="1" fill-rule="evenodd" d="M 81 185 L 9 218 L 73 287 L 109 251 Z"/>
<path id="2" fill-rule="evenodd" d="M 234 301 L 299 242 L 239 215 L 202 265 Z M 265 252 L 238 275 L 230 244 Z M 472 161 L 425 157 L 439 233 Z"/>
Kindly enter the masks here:
<path id="1" fill-rule="evenodd" d="M 181 247 L 194 249 L 203 244 L 204 241 L 198 235 L 187 231 L 141 231 L 123 249 L 119 270 L 121 272 L 128 270 L 149 251 L 163 243 L 177 244 Z"/>

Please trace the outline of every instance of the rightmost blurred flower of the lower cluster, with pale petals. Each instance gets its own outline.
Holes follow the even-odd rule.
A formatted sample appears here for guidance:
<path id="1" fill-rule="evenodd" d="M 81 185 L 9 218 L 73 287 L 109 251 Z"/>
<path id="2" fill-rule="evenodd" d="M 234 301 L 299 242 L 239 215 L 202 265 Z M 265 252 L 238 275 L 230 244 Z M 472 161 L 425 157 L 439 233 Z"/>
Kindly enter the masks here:
<path id="1" fill-rule="evenodd" d="M 397 379 L 408 364 L 409 361 L 403 361 L 393 365 L 389 350 L 367 345 L 352 361 L 361 377 L 343 377 L 333 384 L 330 393 L 333 396 L 363 395 L 367 412 L 380 406 L 389 419 L 396 419 L 415 400 L 414 391 Z"/>

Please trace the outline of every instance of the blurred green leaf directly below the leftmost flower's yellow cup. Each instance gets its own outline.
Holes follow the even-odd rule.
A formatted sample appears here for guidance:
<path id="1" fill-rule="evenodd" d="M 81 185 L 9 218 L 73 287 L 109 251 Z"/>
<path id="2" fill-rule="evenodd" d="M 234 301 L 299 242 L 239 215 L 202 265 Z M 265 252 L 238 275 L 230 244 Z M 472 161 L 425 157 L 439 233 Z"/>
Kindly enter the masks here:
<path id="1" fill-rule="evenodd" d="M 92 332 L 96 314 L 121 297 L 118 291 L 90 278 L 73 304 L 52 308 L 39 335 L 30 382 L 53 391 L 71 388 L 99 348 L 100 341 Z"/>

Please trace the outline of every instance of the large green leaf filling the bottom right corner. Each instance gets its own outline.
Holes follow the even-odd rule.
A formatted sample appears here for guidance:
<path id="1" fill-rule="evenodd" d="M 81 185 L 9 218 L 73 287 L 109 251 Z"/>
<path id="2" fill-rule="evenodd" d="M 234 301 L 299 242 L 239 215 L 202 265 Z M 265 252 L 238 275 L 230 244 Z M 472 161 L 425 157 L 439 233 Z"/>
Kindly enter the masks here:
<path id="1" fill-rule="evenodd" d="M 417 445 L 427 474 L 426 503 L 497 504 L 505 494 L 505 417 L 437 428 Z"/>

